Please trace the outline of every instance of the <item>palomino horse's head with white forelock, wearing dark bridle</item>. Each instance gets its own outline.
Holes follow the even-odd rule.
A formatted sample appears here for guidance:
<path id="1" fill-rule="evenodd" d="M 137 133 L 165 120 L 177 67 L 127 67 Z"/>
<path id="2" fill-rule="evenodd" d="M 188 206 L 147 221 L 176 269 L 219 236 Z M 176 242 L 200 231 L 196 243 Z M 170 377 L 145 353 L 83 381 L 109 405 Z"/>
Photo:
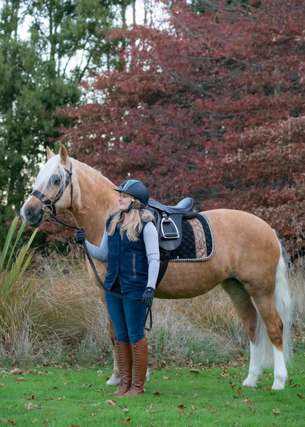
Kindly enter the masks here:
<path id="1" fill-rule="evenodd" d="M 48 162 L 39 172 L 33 191 L 21 208 L 24 223 L 39 226 L 56 211 L 68 209 L 73 199 L 72 162 L 63 145 L 55 155 L 48 147 Z"/>

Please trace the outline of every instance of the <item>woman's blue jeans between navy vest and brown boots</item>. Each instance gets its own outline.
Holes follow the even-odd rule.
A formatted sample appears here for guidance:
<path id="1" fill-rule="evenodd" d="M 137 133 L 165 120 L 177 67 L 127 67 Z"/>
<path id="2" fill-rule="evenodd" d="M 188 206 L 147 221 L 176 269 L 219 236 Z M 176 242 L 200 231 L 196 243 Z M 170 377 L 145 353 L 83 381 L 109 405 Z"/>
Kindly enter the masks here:
<path id="1" fill-rule="evenodd" d="M 137 344 L 144 338 L 145 305 L 141 301 L 122 300 L 108 292 L 105 292 L 105 299 L 117 341 Z"/>

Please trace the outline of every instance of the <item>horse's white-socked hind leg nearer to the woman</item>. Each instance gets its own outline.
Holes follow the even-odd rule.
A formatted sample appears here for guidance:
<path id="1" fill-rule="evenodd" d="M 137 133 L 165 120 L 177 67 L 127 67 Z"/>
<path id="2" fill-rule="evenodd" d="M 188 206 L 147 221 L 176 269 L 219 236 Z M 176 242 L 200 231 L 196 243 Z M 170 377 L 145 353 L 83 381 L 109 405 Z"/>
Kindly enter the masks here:
<path id="1" fill-rule="evenodd" d="M 245 290 L 244 285 L 235 279 L 225 280 L 223 289 L 230 296 L 237 315 L 242 320 L 247 337 L 250 339 L 250 367 L 247 379 L 242 383 L 244 386 L 255 387 L 257 381 L 262 378 L 262 357 L 259 348 L 254 344 L 255 331 L 257 328 L 257 310 L 252 298 Z"/>

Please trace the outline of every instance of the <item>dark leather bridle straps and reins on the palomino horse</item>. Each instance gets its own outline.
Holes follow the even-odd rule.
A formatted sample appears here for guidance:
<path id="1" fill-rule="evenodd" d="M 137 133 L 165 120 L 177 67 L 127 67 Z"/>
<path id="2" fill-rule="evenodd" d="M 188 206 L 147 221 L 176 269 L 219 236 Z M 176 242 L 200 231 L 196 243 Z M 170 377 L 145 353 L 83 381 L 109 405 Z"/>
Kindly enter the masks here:
<path id="1" fill-rule="evenodd" d="M 58 226 L 64 226 L 64 227 L 68 227 L 68 228 L 74 228 L 75 230 L 80 230 L 79 227 L 72 226 L 70 224 L 64 223 L 63 221 L 61 221 L 56 216 L 57 214 L 56 214 L 56 209 L 55 209 L 55 203 L 61 198 L 61 196 L 63 196 L 63 193 L 65 192 L 65 189 L 68 187 L 69 184 L 71 185 L 71 192 L 70 192 L 71 202 L 70 202 L 70 204 L 72 204 L 72 200 L 73 200 L 72 162 L 71 161 L 70 161 L 70 171 L 68 169 L 65 169 L 65 171 L 68 172 L 68 176 L 66 176 L 66 179 L 65 179 L 65 185 L 61 187 L 61 189 L 55 195 L 53 200 L 50 200 L 45 194 L 41 193 L 41 191 L 38 191 L 38 190 L 33 190 L 31 192 L 31 196 L 37 197 L 37 199 L 39 199 L 44 204 L 44 206 L 42 208 L 43 213 L 50 216 L 50 218 L 53 218 L 53 220 L 55 220 L 55 221 L 50 221 L 50 219 L 46 219 L 46 222 L 49 222 L 51 224 L 56 224 Z M 45 211 L 46 208 L 50 209 L 50 213 L 47 213 Z M 90 255 L 88 249 L 87 249 L 85 241 L 83 241 L 83 243 L 82 243 L 82 248 L 84 249 L 85 254 L 87 255 L 87 259 L 91 265 L 93 273 L 95 273 L 95 277 L 97 278 L 97 281 L 98 281 L 100 287 L 102 288 L 102 290 L 104 290 L 105 292 L 108 292 L 110 295 L 113 295 L 117 298 L 120 298 L 121 300 L 141 301 L 141 298 L 125 297 L 124 295 L 119 295 L 119 294 L 112 292 L 111 290 L 107 289 L 104 285 L 104 282 L 100 278 L 99 273 L 97 273 L 97 269 L 95 268 L 95 264 L 93 263 L 93 260 L 91 258 L 91 255 Z M 149 317 L 149 327 L 146 327 L 146 321 L 147 321 L 148 317 Z M 147 307 L 144 325 L 145 325 L 144 329 L 146 331 L 151 330 L 151 327 L 152 327 L 151 306 Z"/>

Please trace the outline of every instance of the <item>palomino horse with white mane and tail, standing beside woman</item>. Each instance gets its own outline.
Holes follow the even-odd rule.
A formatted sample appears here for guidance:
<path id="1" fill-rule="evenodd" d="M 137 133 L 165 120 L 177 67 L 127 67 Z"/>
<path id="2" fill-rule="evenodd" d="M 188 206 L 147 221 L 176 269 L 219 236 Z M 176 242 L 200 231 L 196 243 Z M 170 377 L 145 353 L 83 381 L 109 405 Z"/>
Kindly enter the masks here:
<path id="1" fill-rule="evenodd" d="M 47 151 L 48 162 L 23 204 L 21 218 L 39 226 L 50 211 L 69 211 L 77 226 L 84 228 L 88 241 L 99 246 L 109 212 L 117 210 L 116 187 L 100 172 L 70 159 L 65 147 L 57 155 Z M 243 385 L 255 387 L 263 368 L 273 364 L 272 389 L 284 389 L 291 301 L 277 236 L 262 219 L 246 212 L 215 209 L 203 214 L 213 230 L 214 255 L 196 263 L 168 263 L 155 295 L 191 298 L 221 284 L 250 339 L 250 369 Z M 96 266 L 105 275 L 105 263 L 96 262 Z"/>

